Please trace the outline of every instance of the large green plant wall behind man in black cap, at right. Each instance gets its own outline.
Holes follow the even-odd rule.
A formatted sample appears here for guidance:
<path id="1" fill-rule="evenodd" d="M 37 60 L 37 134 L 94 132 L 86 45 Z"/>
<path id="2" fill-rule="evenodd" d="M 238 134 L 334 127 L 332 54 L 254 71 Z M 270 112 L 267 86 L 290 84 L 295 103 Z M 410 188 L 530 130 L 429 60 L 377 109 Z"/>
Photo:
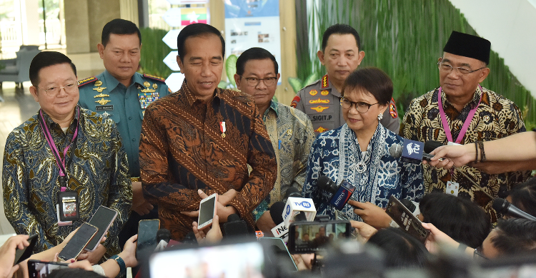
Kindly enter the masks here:
<path id="1" fill-rule="evenodd" d="M 437 58 L 452 31 L 477 35 L 448 0 L 297 0 L 307 3 L 307 34 L 297 37 L 297 78 L 322 76 L 316 58 L 327 27 L 344 23 L 361 37 L 365 52 L 361 66 L 382 68 L 394 83 L 394 99 L 404 113 L 412 98 L 439 86 Z M 300 24 L 297 24 L 300 25 Z M 298 28 L 298 34 L 302 27 Z M 493 48 L 493 46 L 492 46 Z M 310 62 L 305 62 L 306 57 Z M 492 51 L 490 75 L 482 86 L 514 101 L 524 112 L 527 129 L 536 124 L 535 99 Z"/>

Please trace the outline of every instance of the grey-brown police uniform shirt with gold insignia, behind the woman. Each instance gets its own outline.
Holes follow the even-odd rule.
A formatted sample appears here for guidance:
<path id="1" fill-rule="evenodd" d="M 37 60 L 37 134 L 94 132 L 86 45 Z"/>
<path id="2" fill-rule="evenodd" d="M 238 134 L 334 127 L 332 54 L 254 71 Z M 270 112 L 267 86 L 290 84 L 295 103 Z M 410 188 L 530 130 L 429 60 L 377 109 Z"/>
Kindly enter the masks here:
<path id="1" fill-rule="evenodd" d="M 341 93 L 325 75 L 311 85 L 302 88 L 290 106 L 306 113 L 311 119 L 314 134 L 319 135 L 324 131 L 344 125 L 339 96 Z M 391 98 L 389 108 L 384 111 L 383 118 L 379 123 L 388 130 L 398 133 L 400 122 L 394 99 Z"/>

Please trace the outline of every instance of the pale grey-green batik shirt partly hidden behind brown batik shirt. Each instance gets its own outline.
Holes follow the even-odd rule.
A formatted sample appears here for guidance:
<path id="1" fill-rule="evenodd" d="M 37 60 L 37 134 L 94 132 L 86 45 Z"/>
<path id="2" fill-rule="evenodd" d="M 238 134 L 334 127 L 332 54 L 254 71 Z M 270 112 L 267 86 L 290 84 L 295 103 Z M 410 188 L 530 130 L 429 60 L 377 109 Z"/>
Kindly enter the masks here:
<path id="1" fill-rule="evenodd" d="M 277 180 L 272 192 L 253 210 L 255 220 L 274 202 L 281 201 L 289 187 L 302 190 L 314 141 L 311 120 L 300 110 L 272 101 L 263 121 L 277 158 Z"/>

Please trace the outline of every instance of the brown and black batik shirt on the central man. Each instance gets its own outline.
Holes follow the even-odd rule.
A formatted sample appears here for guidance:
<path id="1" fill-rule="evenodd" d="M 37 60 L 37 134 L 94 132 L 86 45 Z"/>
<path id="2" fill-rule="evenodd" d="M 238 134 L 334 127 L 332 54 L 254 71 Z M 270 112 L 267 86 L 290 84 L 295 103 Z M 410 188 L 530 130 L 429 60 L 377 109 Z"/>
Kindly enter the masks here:
<path id="1" fill-rule="evenodd" d="M 217 88 L 202 103 L 186 81 L 145 111 L 139 152 L 144 197 L 159 205 L 161 225 L 175 240 L 197 221 L 180 213 L 199 210 L 197 189 L 207 195 L 237 190 L 228 205 L 253 226 L 251 212 L 277 177 L 274 148 L 253 98 Z"/>

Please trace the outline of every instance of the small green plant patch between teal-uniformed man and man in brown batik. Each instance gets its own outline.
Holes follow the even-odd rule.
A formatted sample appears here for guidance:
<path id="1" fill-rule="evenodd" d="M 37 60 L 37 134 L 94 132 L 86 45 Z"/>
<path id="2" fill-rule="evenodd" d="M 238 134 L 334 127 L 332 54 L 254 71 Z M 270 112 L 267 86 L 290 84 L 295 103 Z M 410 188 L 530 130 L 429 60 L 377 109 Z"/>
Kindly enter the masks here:
<path id="1" fill-rule="evenodd" d="M 142 60 L 139 62 L 139 72 L 167 78 L 173 72 L 163 62 L 167 54 L 172 51 L 172 49 L 162 41 L 162 38 L 166 36 L 167 31 L 152 28 L 144 28 L 140 31 L 142 33 Z"/>

